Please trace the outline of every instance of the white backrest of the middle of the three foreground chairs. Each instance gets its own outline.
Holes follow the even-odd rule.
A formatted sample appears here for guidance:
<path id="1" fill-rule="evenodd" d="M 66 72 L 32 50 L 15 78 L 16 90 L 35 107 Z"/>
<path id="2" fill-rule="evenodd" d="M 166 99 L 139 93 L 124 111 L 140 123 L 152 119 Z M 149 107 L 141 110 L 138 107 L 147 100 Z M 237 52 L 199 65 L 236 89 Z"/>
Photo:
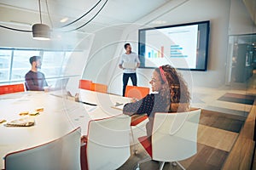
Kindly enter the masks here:
<path id="1" fill-rule="evenodd" d="M 113 116 L 90 121 L 86 155 L 88 169 L 117 169 L 130 157 L 131 117 Z"/>

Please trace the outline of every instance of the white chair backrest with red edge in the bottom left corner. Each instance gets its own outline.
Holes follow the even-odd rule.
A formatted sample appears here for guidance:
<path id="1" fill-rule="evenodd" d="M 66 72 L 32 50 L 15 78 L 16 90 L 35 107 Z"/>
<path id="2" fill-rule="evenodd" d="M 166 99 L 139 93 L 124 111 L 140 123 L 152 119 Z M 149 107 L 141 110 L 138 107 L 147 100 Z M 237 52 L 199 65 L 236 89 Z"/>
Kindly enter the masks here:
<path id="1" fill-rule="evenodd" d="M 5 169 L 80 169 L 80 136 L 78 127 L 47 144 L 9 153 L 5 156 Z"/>

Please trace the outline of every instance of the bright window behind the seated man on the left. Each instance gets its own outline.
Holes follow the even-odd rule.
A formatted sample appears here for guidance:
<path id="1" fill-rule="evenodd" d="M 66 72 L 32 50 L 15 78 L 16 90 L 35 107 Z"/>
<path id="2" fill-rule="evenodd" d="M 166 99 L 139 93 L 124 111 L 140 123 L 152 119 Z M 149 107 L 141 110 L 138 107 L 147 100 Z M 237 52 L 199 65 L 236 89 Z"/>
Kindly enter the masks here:
<path id="1" fill-rule="evenodd" d="M 63 77 L 67 61 L 73 53 L 83 51 L 53 51 L 43 49 L 0 48 L 0 83 L 24 82 L 27 71 L 30 71 L 30 57 L 41 56 L 42 67 L 49 85 L 55 84 L 58 77 Z"/>

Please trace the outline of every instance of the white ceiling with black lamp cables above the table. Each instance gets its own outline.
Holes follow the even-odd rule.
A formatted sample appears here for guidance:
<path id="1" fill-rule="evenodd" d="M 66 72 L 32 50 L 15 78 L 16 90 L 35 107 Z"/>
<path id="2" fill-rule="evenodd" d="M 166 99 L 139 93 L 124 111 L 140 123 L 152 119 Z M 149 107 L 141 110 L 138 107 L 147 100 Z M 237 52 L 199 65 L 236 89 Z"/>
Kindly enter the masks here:
<path id="1" fill-rule="evenodd" d="M 53 29 L 60 28 L 78 19 L 100 2 L 82 20 L 62 28 L 67 31 L 78 28 L 94 17 L 102 8 L 96 18 L 81 29 L 82 31 L 93 31 L 102 26 L 133 23 L 170 1 L 172 0 L 108 0 L 102 8 L 106 0 L 41 0 L 42 20 L 44 24 L 48 24 Z M 29 29 L 33 24 L 40 22 L 38 11 L 38 0 L 0 0 L 0 25 Z M 67 21 L 61 23 L 61 20 L 65 18 Z"/>

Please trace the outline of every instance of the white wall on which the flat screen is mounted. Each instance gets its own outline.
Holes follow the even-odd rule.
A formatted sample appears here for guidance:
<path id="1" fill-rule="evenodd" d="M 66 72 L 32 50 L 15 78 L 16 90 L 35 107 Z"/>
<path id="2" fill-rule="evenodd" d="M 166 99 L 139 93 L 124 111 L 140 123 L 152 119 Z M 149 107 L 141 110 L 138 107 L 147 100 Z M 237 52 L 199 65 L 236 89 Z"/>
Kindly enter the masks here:
<path id="1" fill-rule="evenodd" d="M 169 6 L 169 8 L 168 8 Z M 173 8 L 175 7 L 175 8 Z M 167 11 L 166 11 L 167 10 Z M 155 16 L 161 14 L 155 19 Z M 225 63 L 228 47 L 228 29 L 230 20 L 230 0 L 189 0 L 189 1 L 171 1 L 165 7 L 157 9 L 157 13 L 148 15 L 143 27 L 153 26 L 150 22 L 154 20 L 165 20 L 165 26 L 183 24 L 195 21 L 210 20 L 210 42 L 207 71 L 182 71 L 190 88 L 192 86 L 203 86 L 217 88 L 224 84 Z M 154 20 L 152 20 L 154 19 Z M 137 52 L 138 31 L 140 26 L 131 26 L 125 30 L 126 40 L 132 42 L 132 47 Z M 142 28 L 142 27 L 141 27 Z M 119 50 L 119 49 L 118 49 Z M 153 70 L 138 69 L 138 85 L 148 86 L 148 81 Z M 116 69 L 116 72 L 119 72 Z M 121 81 L 121 76 L 119 77 Z M 111 88 L 111 92 L 120 94 L 121 83 Z M 119 89 L 120 88 L 120 89 Z"/>

